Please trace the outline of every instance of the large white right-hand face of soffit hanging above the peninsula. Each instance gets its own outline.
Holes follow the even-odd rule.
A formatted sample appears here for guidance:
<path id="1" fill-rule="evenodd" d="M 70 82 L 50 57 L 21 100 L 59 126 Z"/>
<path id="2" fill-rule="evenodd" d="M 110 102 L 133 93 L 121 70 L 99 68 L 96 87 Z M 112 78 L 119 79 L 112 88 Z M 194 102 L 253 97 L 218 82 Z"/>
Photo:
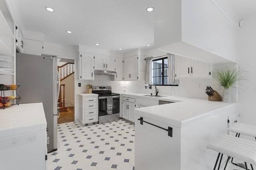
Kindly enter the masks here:
<path id="1" fill-rule="evenodd" d="M 214 1 L 182 0 L 182 41 L 236 62 L 238 20 Z"/>

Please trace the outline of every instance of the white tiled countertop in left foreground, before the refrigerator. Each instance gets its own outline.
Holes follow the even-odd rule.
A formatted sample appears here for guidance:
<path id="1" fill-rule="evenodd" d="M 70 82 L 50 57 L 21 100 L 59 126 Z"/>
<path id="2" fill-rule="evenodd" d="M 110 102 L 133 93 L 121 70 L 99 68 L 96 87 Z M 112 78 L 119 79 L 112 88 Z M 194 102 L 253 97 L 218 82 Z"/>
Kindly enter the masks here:
<path id="1" fill-rule="evenodd" d="M 0 109 L 0 137 L 46 130 L 42 103 L 20 104 Z"/>

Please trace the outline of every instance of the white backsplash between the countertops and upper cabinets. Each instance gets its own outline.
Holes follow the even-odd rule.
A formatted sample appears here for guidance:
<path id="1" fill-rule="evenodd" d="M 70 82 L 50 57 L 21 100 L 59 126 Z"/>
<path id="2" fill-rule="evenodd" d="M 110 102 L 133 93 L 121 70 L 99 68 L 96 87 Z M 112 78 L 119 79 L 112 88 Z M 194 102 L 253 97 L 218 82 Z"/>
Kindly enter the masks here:
<path id="1" fill-rule="evenodd" d="M 155 88 L 145 89 L 144 81 L 112 81 L 113 76 L 95 75 L 94 81 L 78 80 L 81 87 L 78 87 L 78 94 L 84 93 L 86 84 L 92 86 L 112 86 L 112 91 L 117 93 L 134 92 L 144 94 L 155 94 Z M 159 95 L 180 96 L 197 99 L 208 99 L 205 94 L 206 86 L 212 86 L 222 96 L 222 88 L 212 78 L 182 79 L 179 86 L 157 86 Z M 236 90 L 231 90 L 232 101 L 236 101 Z"/>

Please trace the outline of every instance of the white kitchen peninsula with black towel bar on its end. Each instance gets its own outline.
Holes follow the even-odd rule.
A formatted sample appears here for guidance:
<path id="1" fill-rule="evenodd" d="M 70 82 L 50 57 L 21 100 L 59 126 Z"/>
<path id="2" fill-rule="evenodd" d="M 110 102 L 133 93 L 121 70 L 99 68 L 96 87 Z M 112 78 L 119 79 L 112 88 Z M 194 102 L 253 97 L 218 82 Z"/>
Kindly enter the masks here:
<path id="1" fill-rule="evenodd" d="M 177 101 L 177 97 L 158 100 Z M 207 150 L 206 144 L 219 133 L 228 133 L 228 119 L 233 122 L 237 110 L 237 103 L 192 98 L 134 109 L 136 168 L 213 169 L 217 153 Z"/>

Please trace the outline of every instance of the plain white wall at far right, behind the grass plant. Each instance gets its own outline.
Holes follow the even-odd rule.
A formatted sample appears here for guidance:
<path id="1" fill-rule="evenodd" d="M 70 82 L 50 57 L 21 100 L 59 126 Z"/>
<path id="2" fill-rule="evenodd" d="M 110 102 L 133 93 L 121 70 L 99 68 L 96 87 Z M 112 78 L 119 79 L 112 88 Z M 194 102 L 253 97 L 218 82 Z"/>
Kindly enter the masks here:
<path id="1" fill-rule="evenodd" d="M 245 18 L 244 21 L 239 39 L 238 65 L 248 81 L 240 82 L 239 113 L 241 122 L 256 125 L 256 16 Z"/>

